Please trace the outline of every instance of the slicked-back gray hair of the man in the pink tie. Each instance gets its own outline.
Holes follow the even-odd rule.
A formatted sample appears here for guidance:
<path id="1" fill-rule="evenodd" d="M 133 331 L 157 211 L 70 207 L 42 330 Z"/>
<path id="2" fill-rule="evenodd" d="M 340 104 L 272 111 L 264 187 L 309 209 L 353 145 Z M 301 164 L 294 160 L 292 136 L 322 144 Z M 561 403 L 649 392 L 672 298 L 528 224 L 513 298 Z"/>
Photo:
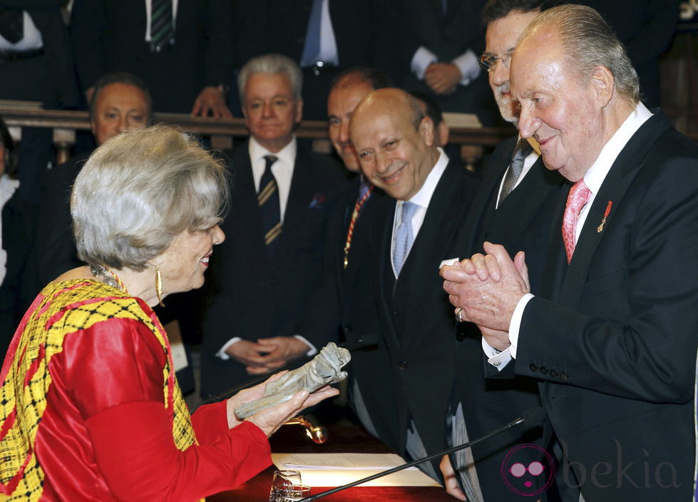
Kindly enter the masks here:
<path id="1" fill-rule="evenodd" d="M 621 96 L 632 103 L 640 101 L 637 72 L 625 47 L 597 11 L 576 4 L 553 7 L 538 14 L 521 39 L 541 25 L 557 27 L 570 68 L 582 76 L 584 83 L 591 78 L 595 66 L 602 65 L 612 73 L 615 90 Z"/>

